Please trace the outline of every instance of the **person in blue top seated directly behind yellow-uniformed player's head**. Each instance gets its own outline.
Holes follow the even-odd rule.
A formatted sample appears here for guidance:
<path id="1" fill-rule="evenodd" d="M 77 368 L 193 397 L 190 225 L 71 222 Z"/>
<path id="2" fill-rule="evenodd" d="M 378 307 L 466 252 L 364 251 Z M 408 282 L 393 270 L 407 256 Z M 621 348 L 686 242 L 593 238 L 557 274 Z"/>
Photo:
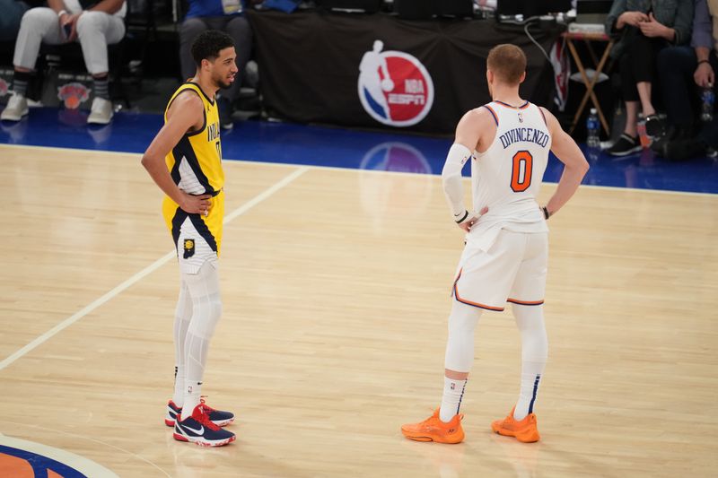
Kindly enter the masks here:
<path id="1" fill-rule="evenodd" d="M 222 30 L 234 40 L 237 51 L 237 68 L 240 73 L 228 89 L 217 96 L 220 126 L 231 129 L 234 101 L 240 96 L 241 77 L 250 60 L 252 30 L 244 16 L 249 4 L 260 4 L 263 0 L 188 0 L 189 9 L 180 27 L 180 65 L 182 77 L 194 76 L 197 65 L 190 51 L 197 35 L 205 30 Z"/>

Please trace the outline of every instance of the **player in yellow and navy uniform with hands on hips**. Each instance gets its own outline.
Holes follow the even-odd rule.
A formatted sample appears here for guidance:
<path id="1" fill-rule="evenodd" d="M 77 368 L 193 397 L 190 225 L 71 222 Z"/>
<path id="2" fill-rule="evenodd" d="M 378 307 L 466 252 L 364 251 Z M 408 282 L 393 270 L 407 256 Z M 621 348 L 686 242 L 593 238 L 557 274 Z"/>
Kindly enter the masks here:
<path id="1" fill-rule="evenodd" d="M 175 387 L 164 422 L 174 438 L 204 447 L 234 441 L 220 427 L 234 414 L 201 398 L 207 351 L 222 314 L 217 259 L 222 244 L 224 173 L 216 92 L 234 81 L 232 38 L 207 30 L 192 45 L 197 74 L 172 95 L 164 126 L 142 164 L 164 194 L 162 215 L 177 248 L 180 299 L 174 321 Z"/>

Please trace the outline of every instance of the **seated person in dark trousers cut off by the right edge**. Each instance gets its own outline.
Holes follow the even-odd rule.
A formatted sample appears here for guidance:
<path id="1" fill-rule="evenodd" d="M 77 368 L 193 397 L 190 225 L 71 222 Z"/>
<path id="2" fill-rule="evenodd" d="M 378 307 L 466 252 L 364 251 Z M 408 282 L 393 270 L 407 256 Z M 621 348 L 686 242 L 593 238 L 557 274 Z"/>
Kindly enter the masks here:
<path id="1" fill-rule="evenodd" d="M 695 107 L 700 97 L 699 91 L 704 88 L 713 88 L 715 91 L 715 72 L 718 70 L 718 0 L 695 0 L 694 6 L 691 46 L 665 48 L 658 55 L 662 98 L 670 127 L 666 135 L 653 143 L 652 149 L 664 157 L 675 155 L 676 151 L 670 151 L 675 150 L 669 147 L 670 143 L 694 138 L 697 119 Z M 705 135 L 705 130 L 698 136 L 698 140 Z M 687 146 L 686 143 L 681 144 Z M 715 147 L 714 144 L 710 145 Z M 694 150 L 692 146 L 685 148 L 686 152 Z"/>

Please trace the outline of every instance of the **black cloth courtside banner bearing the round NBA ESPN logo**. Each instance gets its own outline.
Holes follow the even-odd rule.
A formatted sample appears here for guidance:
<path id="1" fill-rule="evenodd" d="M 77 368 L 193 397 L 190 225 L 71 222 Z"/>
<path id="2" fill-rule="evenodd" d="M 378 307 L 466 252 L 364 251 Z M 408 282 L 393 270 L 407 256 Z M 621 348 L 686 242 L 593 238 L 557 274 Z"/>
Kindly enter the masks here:
<path id="1" fill-rule="evenodd" d="M 499 43 L 513 43 L 529 58 L 523 98 L 546 106 L 552 99 L 551 66 L 521 27 L 383 13 L 248 16 L 264 105 L 277 117 L 451 134 L 468 109 L 490 101 L 486 56 Z M 558 32 L 532 35 L 548 51 Z"/>

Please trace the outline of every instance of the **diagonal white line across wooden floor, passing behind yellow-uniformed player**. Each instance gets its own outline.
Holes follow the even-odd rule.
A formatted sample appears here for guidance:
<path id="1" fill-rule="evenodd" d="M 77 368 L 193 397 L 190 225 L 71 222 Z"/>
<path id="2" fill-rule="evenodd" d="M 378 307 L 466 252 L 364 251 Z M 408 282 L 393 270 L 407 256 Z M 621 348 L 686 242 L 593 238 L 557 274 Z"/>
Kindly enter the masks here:
<path id="1" fill-rule="evenodd" d="M 289 185 L 293 182 L 294 179 L 299 178 L 304 174 L 306 171 L 308 171 L 309 168 L 302 166 L 298 169 L 293 170 L 291 174 L 286 176 L 283 179 L 280 179 L 277 181 L 274 185 L 271 187 L 268 187 L 263 192 L 259 193 L 257 196 L 254 196 L 250 199 L 250 201 L 242 204 L 240 207 L 232 211 L 232 213 L 229 213 L 224 216 L 224 224 L 234 220 L 235 218 L 241 216 L 243 213 L 246 213 L 251 208 L 256 206 L 257 204 L 261 203 L 268 197 L 274 195 L 277 191 L 282 189 L 283 187 Z M 37 348 L 42 343 L 47 342 L 50 338 L 52 338 L 54 335 L 57 335 L 59 332 L 65 330 L 68 326 L 72 326 L 75 322 L 80 320 L 81 318 L 85 317 L 87 314 L 91 313 L 94 309 L 99 308 L 102 304 L 108 302 L 109 300 L 114 299 L 117 297 L 120 293 L 123 291 L 126 291 L 130 286 L 134 285 L 136 282 L 141 281 L 149 274 L 152 274 L 154 271 L 162 267 L 162 265 L 167 264 L 172 258 L 176 257 L 177 253 L 175 251 L 171 251 L 167 253 L 166 255 L 160 257 L 156 261 L 153 262 L 153 264 L 148 265 L 143 270 L 138 272 L 137 274 L 133 275 L 127 281 L 120 283 L 118 286 L 116 286 L 111 291 L 105 293 L 100 298 L 93 300 L 90 304 L 85 306 L 83 309 L 78 310 L 75 312 L 72 316 L 67 317 L 65 320 L 57 324 L 57 326 L 52 327 L 47 332 L 45 332 L 42 335 L 39 335 L 35 340 L 33 340 L 31 343 L 28 343 L 22 349 L 18 350 L 17 352 L 14 352 L 12 355 L 4 359 L 4 361 L 0 361 L 0 370 L 4 369 L 8 365 L 11 365 L 14 361 L 17 361 L 18 359 L 22 358 L 23 355 L 25 355 L 28 352 L 31 352 L 35 348 Z"/>

